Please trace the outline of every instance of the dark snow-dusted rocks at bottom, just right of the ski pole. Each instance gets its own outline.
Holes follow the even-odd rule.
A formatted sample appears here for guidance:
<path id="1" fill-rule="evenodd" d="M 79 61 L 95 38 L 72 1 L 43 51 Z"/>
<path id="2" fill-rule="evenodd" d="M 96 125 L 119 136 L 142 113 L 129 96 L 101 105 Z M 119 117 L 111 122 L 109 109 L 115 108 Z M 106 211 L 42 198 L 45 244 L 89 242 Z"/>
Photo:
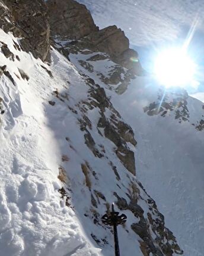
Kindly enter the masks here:
<path id="1" fill-rule="evenodd" d="M 137 223 L 131 224 L 131 229 L 141 238 L 141 251 L 147 256 L 173 256 L 174 254 L 183 254 L 178 246 L 173 233 L 165 227 L 164 216 L 157 210 L 157 205 L 153 199 L 148 199 L 149 211 L 145 216 L 145 211 L 139 205 L 141 188 L 132 183 L 132 188 L 128 193 L 129 202 L 114 193 L 117 198 L 117 207 L 120 210 L 129 210 L 135 217 L 139 218 Z M 152 239 L 152 233 L 155 239 Z"/>

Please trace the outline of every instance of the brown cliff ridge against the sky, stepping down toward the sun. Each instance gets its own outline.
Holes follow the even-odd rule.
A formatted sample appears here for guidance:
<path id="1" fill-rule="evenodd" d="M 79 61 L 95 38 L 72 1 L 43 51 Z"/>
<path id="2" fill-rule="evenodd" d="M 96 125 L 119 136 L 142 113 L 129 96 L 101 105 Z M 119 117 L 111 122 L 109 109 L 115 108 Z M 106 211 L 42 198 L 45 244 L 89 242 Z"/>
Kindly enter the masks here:
<path id="1" fill-rule="evenodd" d="M 47 1 L 50 25 L 54 39 L 67 40 L 70 51 L 104 52 L 111 60 L 131 70 L 133 74 L 144 75 L 138 53 L 129 48 L 129 39 L 116 26 L 99 30 L 85 5 L 74 0 Z"/>

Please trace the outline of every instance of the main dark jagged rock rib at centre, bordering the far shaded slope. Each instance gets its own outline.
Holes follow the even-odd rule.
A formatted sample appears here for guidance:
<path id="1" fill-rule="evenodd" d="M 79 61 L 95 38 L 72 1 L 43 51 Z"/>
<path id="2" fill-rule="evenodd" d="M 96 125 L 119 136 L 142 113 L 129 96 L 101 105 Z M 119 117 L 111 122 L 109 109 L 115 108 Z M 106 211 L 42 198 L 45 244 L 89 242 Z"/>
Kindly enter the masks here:
<path id="1" fill-rule="evenodd" d="M 127 146 L 127 142 L 132 143 L 133 146 L 136 145 L 135 135 L 132 128 L 120 119 L 120 114 L 114 109 L 103 88 L 95 85 L 94 82 L 90 85 L 90 87 L 90 96 L 91 98 L 95 99 L 95 101 L 90 101 L 87 103 L 89 106 L 92 105 L 92 107 L 100 108 L 101 113 L 101 117 L 97 124 L 98 132 L 100 133 L 100 129 L 104 130 L 104 136 L 116 146 L 115 153 L 123 166 L 125 166 L 130 173 L 135 175 L 135 154 Z M 112 114 L 110 118 L 107 118 L 104 114 L 105 108 L 109 108 L 111 111 Z M 101 133 L 100 135 L 103 136 Z M 92 147 L 95 146 L 93 140 L 90 139 L 89 141 L 91 142 Z M 95 155 L 95 147 L 92 149 L 92 151 Z M 99 152 L 97 152 L 96 155 L 97 157 L 101 157 L 103 154 L 101 155 Z"/>

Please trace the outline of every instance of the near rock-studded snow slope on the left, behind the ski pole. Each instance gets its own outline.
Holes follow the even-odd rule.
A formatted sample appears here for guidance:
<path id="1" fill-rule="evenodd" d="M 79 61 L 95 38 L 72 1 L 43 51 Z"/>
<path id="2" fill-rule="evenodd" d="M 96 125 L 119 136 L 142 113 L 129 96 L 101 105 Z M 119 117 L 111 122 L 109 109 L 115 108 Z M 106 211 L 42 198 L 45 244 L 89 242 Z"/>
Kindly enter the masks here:
<path id="1" fill-rule="evenodd" d="M 112 201 L 127 215 L 122 255 L 182 254 L 133 175 L 133 131 L 103 88 L 55 49 L 49 66 L 11 34 L 0 41 L 2 255 L 113 255 L 100 220 Z"/>

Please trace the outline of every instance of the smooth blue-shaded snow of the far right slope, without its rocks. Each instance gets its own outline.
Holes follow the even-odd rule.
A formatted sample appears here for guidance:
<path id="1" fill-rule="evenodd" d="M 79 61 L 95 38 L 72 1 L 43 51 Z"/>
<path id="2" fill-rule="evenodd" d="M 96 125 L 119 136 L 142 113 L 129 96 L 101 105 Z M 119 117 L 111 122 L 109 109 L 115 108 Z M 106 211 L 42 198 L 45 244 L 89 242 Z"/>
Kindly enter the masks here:
<path id="1" fill-rule="evenodd" d="M 167 225 L 184 249 L 184 255 L 201 256 L 204 141 L 203 132 L 197 131 L 191 123 L 199 125 L 203 118 L 202 102 L 187 97 L 190 123 L 179 123 L 175 115 L 168 113 L 165 117 L 161 114 L 149 117 L 142 113 L 144 102 L 141 102 L 140 96 L 144 80 L 141 82 L 141 85 L 132 83 L 131 89 L 120 99 L 120 104 L 126 106 L 123 109 L 126 121 L 136 128 L 138 179 L 157 201 Z M 146 81 L 147 84 L 149 82 Z M 135 89 L 135 86 L 138 88 Z M 157 95 L 149 102 L 154 101 L 157 101 Z M 128 115 L 129 111 L 134 113 L 133 117 Z"/>

